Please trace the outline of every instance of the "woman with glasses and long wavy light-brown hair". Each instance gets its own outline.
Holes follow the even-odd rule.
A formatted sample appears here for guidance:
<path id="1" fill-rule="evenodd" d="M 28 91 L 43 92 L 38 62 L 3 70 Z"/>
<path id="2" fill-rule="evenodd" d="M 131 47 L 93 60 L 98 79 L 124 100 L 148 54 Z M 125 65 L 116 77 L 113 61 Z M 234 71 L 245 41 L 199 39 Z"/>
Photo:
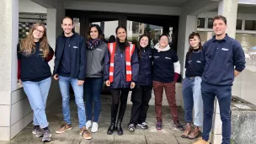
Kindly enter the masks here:
<path id="1" fill-rule="evenodd" d="M 44 24 L 34 24 L 29 35 L 18 45 L 18 79 L 23 84 L 29 104 L 34 112 L 33 134 L 42 141 L 51 141 L 51 131 L 45 115 L 46 100 L 51 87 L 51 61 L 54 51 L 46 38 Z M 42 130 L 43 129 L 43 130 Z"/>

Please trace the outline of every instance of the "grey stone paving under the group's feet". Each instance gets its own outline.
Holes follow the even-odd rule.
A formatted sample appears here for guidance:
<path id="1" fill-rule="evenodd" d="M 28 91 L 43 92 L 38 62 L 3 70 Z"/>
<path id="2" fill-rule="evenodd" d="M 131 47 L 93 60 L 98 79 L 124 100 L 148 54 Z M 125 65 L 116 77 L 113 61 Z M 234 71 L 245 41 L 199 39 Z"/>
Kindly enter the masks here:
<path id="1" fill-rule="evenodd" d="M 67 131 L 63 134 L 55 134 L 57 128 L 59 128 L 62 114 L 61 114 L 61 101 L 51 104 L 46 109 L 47 117 L 50 122 L 50 130 L 52 131 L 52 139 L 49 144 L 191 144 L 194 141 L 181 138 L 182 131 L 177 131 L 173 128 L 173 122 L 167 106 L 163 106 L 163 130 L 157 131 L 155 129 L 155 111 L 154 106 L 150 106 L 147 113 L 148 130 L 141 130 L 137 128 L 135 132 L 127 130 L 127 125 L 131 115 L 131 105 L 127 105 L 125 117 L 123 120 L 124 135 L 118 136 L 107 135 L 107 129 L 110 121 L 110 96 L 103 96 L 102 98 L 102 110 L 99 117 L 99 131 L 93 133 L 93 139 L 90 141 L 84 140 L 82 136 L 78 134 L 78 120 L 77 120 L 77 106 L 73 100 L 71 100 L 71 116 L 72 116 L 72 131 Z M 184 111 L 179 107 L 179 118 L 184 124 Z M 0 141 L 0 144 L 41 144 L 41 138 L 37 138 L 32 135 L 33 125 L 30 123 L 27 127 L 21 131 L 12 141 L 4 142 Z"/>

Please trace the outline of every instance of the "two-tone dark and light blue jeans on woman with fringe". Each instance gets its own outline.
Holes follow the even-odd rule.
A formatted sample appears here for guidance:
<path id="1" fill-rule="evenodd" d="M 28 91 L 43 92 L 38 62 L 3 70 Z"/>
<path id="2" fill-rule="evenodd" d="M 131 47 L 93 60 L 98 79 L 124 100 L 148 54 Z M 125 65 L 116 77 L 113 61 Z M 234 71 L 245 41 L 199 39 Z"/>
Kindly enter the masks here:
<path id="1" fill-rule="evenodd" d="M 184 99 L 185 121 L 193 121 L 193 106 L 195 107 L 195 126 L 203 125 L 203 99 L 201 94 L 201 77 L 185 77 L 182 83 Z"/>

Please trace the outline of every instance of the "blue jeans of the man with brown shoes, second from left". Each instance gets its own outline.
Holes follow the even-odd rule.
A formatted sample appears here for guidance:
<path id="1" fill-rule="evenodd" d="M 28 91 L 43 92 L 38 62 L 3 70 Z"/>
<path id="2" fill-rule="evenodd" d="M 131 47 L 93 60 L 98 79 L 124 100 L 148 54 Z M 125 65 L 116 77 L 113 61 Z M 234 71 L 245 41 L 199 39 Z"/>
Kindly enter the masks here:
<path id="1" fill-rule="evenodd" d="M 70 99 L 69 85 L 71 83 L 73 91 L 75 93 L 75 101 L 77 104 L 79 128 L 83 128 L 83 126 L 85 126 L 85 119 L 86 119 L 84 102 L 83 102 L 83 85 L 78 86 L 77 81 L 78 81 L 77 78 L 59 76 L 59 85 L 60 85 L 61 95 L 62 95 L 62 113 L 64 115 L 64 121 L 67 122 L 67 125 L 70 125 L 71 119 L 70 119 L 70 108 L 69 108 L 69 99 Z"/>

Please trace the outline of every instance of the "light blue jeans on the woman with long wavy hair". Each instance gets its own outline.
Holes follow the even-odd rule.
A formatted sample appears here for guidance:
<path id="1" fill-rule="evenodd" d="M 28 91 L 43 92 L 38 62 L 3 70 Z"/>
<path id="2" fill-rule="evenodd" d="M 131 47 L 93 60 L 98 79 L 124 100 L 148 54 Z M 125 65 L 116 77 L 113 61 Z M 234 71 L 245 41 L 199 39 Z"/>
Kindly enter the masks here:
<path id="1" fill-rule="evenodd" d="M 51 77 L 40 82 L 25 81 L 22 83 L 24 92 L 26 93 L 29 99 L 29 104 L 34 112 L 34 125 L 40 125 L 41 128 L 47 127 L 48 121 L 45 115 L 45 106 L 51 87 Z"/>

